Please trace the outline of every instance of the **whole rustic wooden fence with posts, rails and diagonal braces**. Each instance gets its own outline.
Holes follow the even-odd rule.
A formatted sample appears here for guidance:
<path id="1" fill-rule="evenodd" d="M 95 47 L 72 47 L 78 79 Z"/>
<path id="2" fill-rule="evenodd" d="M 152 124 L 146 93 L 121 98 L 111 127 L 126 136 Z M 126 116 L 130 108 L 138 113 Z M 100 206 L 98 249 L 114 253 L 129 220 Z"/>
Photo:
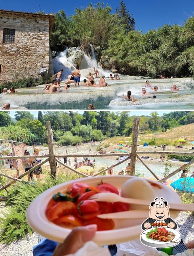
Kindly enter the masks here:
<path id="1" fill-rule="evenodd" d="M 131 153 L 119 153 L 119 154 L 60 154 L 60 157 L 107 157 L 107 156 L 126 156 L 126 158 L 116 164 L 113 164 L 109 167 L 107 167 L 106 169 L 103 169 L 101 171 L 99 171 L 98 173 L 95 173 L 94 175 L 87 175 L 84 173 L 81 173 L 80 171 L 77 171 L 76 169 L 68 166 L 67 164 L 64 164 L 63 162 L 59 161 L 59 155 L 55 155 L 54 154 L 54 148 L 53 148 L 53 131 L 51 129 L 51 123 L 50 121 L 46 122 L 46 131 L 47 131 L 47 141 L 48 141 L 48 149 L 49 149 L 49 154 L 48 155 L 44 155 L 44 156 L 36 156 L 36 158 L 46 158 L 43 162 L 41 162 L 40 164 L 36 165 L 35 167 L 32 167 L 29 171 L 26 171 L 25 173 L 18 175 L 17 178 L 13 178 L 11 176 L 5 175 L 4 173 L 0 172 L 0 175 L 7 177 L 9 179 L 11 179 L 10 182 L 8 182 L 6 185 L 2 185 L 2 187 L 0 187 L 0 191 L 7 189 L 10 185 L 12 185 L 13 183 L 19 181 L 19 182 L 23 182 L 23 183 L 27 183 L 27 181 L 23 181 L 22 178 L 25 177 L 26 175 L 28 175 L 31 171 L 34 171 L 37 167 L 42 166 L 43 164 L 45 164 L 46 162 L 49 162 L 50 164 L 50 169 L 51 169 L 51 177 L 54 179 L 57 175 L 57 167 L 56 167 L 56 162 L 58 162 L 59 164 L 61 164 L 62 166 L 66 167 L 67 169 L 69 169 L 70 171 L 73 171 L 75 173 L 78 173 L 79 175 L 82 175 L 83 177 L 93 177 L 93 176 L 97 176 L 100 175 L 101 173 L 107 171 L 108 169 L 112 169 L 128 160 L 130 160 L 130 175 L 135 175 L 135 164 L 136 164 L 136 159 L 138 159 L 145 167 L 146 169 L 148 169 L 148 171 L 154 176 L 154 178 L 156 178 L 156 180 L 158 182 L 162 182 L 165 181 L 167 179 L 169 179 L 170 177 L 172 177 L 173 175 L 175 175 L 176 173 L 178 173 L 179 171 L 185 169 L 186 167 L 194 164 L 194 160 L 191 160 L 190 162 L 188 162 L 187 164 L 183 164 L 181 167 L 177 168 L 175 171 L 172 171 L 169 175 L 165 176 L 162 179 L 159 179 L 157 177 L 157 175 L 154 173 L 154 171 L 152 171 L 150 169 L 150 167 L 147 166 L 147 164 L 145 162 L 143 162 L 143 160 L 139 157 L 140 154 L 176 154 L 176 155 L 192 155 L 194 156 L 194 152 L 172 152 L 172 151 L 149 151 L 149 150 L 145 150 L 145 151 L 137 151 L 137 138 L 138 138 L 138 134 L 139 134 L 139 121 L 140 121 L 140 117 L 137 117 L 134 119 L 133 121 L 133 134 L 132 134 L 132 145 L 131 145 Z M 8 157 L 1 157 L 1 159 L 7 159 Z M 34 158 L 34 156 L 11 156 L 11 159 L 23 159 L 23 158 Z"/>

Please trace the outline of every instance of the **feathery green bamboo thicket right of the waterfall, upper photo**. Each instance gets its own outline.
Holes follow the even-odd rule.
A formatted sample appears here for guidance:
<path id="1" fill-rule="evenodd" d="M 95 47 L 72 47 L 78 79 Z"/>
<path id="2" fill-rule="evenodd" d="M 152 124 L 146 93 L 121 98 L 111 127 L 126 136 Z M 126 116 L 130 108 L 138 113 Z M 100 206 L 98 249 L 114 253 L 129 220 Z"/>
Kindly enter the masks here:
<path id="1" fill-rule="evenodd" d="M 114 55 L 112 54 L 114 53 Z M 194 74 L 194 17 L 184 26 L 164 25 L 158 31 L 120 30 L 108 41 L 104 51 L 116 68 L 139 75 L 165 77 Z"/>

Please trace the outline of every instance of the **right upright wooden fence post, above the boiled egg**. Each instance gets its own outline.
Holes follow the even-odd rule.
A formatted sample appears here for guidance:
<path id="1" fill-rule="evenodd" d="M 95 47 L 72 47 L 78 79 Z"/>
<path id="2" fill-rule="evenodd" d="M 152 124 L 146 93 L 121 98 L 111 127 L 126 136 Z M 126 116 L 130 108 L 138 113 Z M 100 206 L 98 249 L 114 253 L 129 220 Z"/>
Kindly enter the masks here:
<path id="1" fill-rule="evenodd" d="M 132 146 L 131 146 L 131 165 L 130 165 L 130 175 L 135 175 L 135 163 L 136 163 L 136 151 L 137 151 L 137 137 L 139 133 L 139 120 L 137 117 L 133 120 L 133 134 L 132 134 Z"/>

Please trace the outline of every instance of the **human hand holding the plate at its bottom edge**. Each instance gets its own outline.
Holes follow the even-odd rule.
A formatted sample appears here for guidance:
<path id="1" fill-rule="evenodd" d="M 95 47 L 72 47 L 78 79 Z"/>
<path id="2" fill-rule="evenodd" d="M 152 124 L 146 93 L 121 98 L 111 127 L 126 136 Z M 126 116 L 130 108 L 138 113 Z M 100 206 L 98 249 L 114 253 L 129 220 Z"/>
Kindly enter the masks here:
<path id="1" fill-rule="evenodd" d="M 74 227 L 63 244 L 59 244 L 52 256 L 64 256 L 78 251 L 84 244 L 90 241 L 97 231 L 97 225 L 86 227 Z"/>

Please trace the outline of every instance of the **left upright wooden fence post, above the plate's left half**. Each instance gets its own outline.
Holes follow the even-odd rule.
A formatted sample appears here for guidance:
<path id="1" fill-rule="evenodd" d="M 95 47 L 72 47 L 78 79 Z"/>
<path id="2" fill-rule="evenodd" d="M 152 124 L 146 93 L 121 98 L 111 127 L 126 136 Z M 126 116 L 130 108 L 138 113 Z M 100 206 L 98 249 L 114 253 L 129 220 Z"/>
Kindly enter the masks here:
<path id="1" fill-rule="evenodd" d="M 51 122 L 46 121 L 47 141 L 49 149 L 49 164 L 51 167 L 51 178 L 56 177 L 57 167 L 55 163 L 54 147 L 53 147 L 53 130 L 51 129 Z"/>

